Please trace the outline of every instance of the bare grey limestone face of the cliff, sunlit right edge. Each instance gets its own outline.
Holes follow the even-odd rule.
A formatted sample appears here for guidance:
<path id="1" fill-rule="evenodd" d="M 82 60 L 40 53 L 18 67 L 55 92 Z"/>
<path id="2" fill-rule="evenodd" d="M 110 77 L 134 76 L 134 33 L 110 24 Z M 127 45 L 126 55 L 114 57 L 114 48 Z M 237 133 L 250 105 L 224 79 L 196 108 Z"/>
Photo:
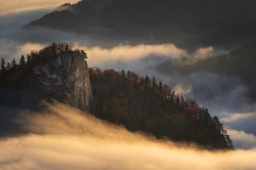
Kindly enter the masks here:
<path id="1" fill-rule="evenodd" d="M 89 111 L 92 100 L 86 55 L 62 53 L 34 67 L 35 86 L 45 96 Z"/>

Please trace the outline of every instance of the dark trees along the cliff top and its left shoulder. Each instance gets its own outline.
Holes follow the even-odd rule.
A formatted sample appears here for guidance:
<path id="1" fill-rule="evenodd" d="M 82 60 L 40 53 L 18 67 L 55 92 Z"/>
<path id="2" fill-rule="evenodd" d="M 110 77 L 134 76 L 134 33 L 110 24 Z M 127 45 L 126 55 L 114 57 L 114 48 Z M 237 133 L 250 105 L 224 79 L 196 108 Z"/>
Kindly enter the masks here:
<path id="1" fill-rule="evenodd" d="M 21 55 L 18 61 L 15 58 L 7 62 L 4 58 L 0 61 L 0 88 L 26 90 L 34 87 L 34 66 L 48 62 L 56 56 L 78 55 L 87 58 L 83 50 L 74 49 L 69 43 L 53 43 L 39 51 L 31 51 L 26 56 Z"/>

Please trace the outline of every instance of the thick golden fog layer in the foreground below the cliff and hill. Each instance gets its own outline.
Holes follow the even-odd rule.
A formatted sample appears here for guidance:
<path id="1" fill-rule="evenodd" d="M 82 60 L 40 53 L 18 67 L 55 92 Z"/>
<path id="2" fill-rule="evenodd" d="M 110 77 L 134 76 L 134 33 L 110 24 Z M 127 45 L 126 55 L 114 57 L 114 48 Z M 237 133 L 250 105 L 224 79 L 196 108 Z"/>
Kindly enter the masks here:
<path id="1" fill-rule="evenodd" d="M 26 114 L 29 114 L 26 112 Z M 61 104 L 20 120 L 25 136 L 1 139 L 0 169 L 255 169 L 256 150 L 206 151 L 157 141 Z"/>

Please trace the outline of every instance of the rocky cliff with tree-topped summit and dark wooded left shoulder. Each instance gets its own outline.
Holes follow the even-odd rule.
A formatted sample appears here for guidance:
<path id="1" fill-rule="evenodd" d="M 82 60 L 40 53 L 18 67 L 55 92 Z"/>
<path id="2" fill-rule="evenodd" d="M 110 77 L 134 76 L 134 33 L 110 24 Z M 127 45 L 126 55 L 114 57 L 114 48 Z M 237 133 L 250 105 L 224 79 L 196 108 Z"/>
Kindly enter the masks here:
<path id="1" fill-rule="evenodd" d="M 33 107 L 54 99 L 89 111 L 92 92 L 86 58 L 83 50 L 72 50 L 67 44 L 31 53 L 23 65 L 1 74 L 0 94 L 6 99 L 0 105 L 10 100 L 15 107 Z"/>

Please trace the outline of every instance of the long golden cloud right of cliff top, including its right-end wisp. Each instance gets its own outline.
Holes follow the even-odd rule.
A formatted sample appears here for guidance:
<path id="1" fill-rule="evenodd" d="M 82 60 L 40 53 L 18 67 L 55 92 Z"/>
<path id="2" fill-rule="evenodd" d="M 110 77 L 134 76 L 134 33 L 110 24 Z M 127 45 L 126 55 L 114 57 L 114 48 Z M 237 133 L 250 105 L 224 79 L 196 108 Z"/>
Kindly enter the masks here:
<path id="1" fill-rule="evenodd" d="M 140 69 L 162 63 L 169 59 L 180 64 L 195 63 L 209 56 L 213 56 L 214 54 L 213 47 L 200 48 L 197 49 L 195 53 L 189 54 L 187 50 L 178 48 L 173 44 L 118 45 L 110 49 L 102 47 L 83 47 L 78 44 L 75 44 L 75 46 L 86 50 L 91 66 L 106 66 L 108 64 L 113 66 L 113 63 L 116 63 L 116 65 L 120 63 L 132 63 L 140 67 Z M 143 62 L 136 63 L 138 61 Z"/>

